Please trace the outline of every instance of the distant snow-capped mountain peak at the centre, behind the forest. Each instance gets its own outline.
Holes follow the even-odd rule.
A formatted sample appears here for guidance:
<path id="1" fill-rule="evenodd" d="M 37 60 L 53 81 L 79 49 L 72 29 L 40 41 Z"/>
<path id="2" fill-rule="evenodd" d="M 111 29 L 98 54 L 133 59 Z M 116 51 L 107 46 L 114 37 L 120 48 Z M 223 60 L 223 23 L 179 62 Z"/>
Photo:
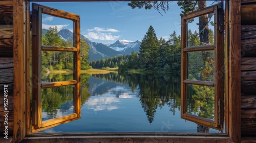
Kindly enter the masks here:
<path id="1" fill-rule="evenodd" d="M 133 51 L 138 53 L 140 49 L 140 41 L 117 40 L 115 43 L 110 44 L 109 47 L 126 55 L 130 55 Z"/>

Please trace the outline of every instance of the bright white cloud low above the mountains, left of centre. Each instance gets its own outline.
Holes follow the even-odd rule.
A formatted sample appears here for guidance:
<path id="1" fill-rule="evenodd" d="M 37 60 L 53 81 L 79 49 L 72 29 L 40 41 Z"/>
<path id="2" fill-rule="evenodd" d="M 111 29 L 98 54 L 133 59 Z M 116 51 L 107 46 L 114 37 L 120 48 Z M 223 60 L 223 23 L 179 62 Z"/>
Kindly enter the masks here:
<path id="1" fill-rule="evenodd" d="M 100 33 L 100 32 L 89 32 L 88 34 L 84 35 L 89 39 L 95 39 L 95 40 L 116 40 L 120 37 L 120 35 L 115 36 L 112 35 L 112 33 Z"/>

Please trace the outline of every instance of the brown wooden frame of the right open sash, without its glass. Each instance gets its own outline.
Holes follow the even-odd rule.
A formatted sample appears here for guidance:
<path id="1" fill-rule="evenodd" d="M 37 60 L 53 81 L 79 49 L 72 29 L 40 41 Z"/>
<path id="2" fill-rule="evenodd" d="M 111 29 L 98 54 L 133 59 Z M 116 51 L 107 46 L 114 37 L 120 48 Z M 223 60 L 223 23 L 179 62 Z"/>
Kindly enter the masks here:
<path id="1" fill-rule="evenodd" d="M 214 13 L 214 45 L 187 47 L 187 20 L 202 15 Z M 181 18 L 181 118 L 197 124 L 223 131 L 224 121 L 224 15 L 223 3 L 188 13 Z M 220 23 L 222 22 L 222 23 Z M 188 53 L 199 51 L 214 51 L 214 82 L 188 80 Z M 187 86 L 202 85 L 214 87 L 215 111 L 214 120 L 209 120 L 187 113 Z"/>

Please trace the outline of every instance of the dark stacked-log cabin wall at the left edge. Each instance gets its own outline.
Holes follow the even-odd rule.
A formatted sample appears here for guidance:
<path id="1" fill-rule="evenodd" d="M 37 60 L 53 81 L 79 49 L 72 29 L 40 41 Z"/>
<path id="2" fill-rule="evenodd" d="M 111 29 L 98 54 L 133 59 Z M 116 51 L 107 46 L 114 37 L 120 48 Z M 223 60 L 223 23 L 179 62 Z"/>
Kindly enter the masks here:
<path id="1" fill-rule="evenodd" d="M 7 85 L 8 87 L 6 87 Z M 4 87 L 6 89 L 4 90 Z M 6 93 L 5 93 L 6 92 Z M 4 96 L 5 94 L 8 96 Z M 6 99 L 5 99 L 6 98 Z M 4 103 L 8 102 L 5 109 Z M 6 112 L 9 111 L 9 112 Z M 4 114 L 8 113 L 8 125 Z M 0 134 L 13 134 L 13 1 L 0 2 Z"/>

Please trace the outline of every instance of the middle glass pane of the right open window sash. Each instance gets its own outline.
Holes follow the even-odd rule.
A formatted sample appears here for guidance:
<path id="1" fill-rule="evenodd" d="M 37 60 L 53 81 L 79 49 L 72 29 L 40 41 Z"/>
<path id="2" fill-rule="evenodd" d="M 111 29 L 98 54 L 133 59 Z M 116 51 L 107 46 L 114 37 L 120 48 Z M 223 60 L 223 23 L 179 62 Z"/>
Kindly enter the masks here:
<path id="1" fill-rule="evenodd" d="M 187 79 L 214 81 L 214 56 L 214 51 L 189 52 Z"/>

